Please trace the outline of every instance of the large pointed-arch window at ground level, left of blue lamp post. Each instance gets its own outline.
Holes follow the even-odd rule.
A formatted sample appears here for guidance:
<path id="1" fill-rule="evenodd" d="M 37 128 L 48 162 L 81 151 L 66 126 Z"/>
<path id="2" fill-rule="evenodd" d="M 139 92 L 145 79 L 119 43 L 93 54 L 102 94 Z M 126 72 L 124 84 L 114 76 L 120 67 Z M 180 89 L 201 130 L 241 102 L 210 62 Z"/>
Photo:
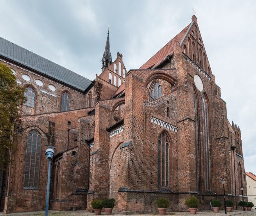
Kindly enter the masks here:
<path id="1" fill-rule="evenodd" d="M 38 187 L 41 135 L 32 130 L 27 135 L 24 187 Z"/>

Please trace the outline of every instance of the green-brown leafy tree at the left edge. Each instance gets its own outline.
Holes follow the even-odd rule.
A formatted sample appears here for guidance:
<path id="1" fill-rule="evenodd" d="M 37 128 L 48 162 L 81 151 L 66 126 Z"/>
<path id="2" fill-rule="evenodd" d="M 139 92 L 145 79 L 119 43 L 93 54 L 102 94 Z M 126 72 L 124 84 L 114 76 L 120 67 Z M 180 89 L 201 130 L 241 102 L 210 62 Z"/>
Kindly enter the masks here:
<path id="1" fill-rule="evenodd" d="M 11 141 L 14 119 L 18 117 L 20 106 L 25 102 L 25 89 L 16 83 L 10 68 L 0 62 L 0 169 L 9 161 L 9 150 L 15 152 Z"/>

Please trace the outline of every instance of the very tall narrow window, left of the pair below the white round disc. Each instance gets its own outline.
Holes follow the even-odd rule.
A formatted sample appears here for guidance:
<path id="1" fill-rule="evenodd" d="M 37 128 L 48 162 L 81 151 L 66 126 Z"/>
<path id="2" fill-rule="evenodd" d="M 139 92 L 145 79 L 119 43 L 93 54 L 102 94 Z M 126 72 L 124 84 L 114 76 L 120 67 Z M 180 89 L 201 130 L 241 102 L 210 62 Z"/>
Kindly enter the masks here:
<path id="1" fill-rule="evenodd" d="M 197 176 L 197 189 L 199 189 L 199 161 L 198 161 L 198 151 L 199 151 L 199 143 L 198 143 L 198 111 L 197 111 L 197 95 L 193 94 L 194 100 L 194 123 L 195 123 L 195 163 L 196 163 L 196 176 Z"/>

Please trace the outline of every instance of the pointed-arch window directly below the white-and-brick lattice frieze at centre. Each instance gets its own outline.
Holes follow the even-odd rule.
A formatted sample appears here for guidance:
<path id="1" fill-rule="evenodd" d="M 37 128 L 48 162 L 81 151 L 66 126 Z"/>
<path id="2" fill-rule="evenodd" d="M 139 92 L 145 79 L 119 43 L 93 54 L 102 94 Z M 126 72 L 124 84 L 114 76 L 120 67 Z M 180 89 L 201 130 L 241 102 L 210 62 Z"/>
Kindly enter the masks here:
<path id="1" fill-rule="evenodd" d="M 158 138 L 158 186 L 169 186 L 169 145 L 165 131 Z"/>

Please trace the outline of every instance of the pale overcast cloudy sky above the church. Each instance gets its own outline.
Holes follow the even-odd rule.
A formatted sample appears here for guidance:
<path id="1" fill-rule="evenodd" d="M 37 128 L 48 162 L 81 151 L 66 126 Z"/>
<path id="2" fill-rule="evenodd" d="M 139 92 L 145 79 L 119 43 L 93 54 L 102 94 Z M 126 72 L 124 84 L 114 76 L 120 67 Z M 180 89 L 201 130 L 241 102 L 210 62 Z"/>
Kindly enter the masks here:
<path id="1" fill-rule="evenodd" d="M 137 69 L 198 18 L 227 117 L 242 131 L 245 170 L 256 174 L 256 2 L 0 0 L 0 37 L 88 79 L 101 72 L 107 25 L 112 59 Z"/>

